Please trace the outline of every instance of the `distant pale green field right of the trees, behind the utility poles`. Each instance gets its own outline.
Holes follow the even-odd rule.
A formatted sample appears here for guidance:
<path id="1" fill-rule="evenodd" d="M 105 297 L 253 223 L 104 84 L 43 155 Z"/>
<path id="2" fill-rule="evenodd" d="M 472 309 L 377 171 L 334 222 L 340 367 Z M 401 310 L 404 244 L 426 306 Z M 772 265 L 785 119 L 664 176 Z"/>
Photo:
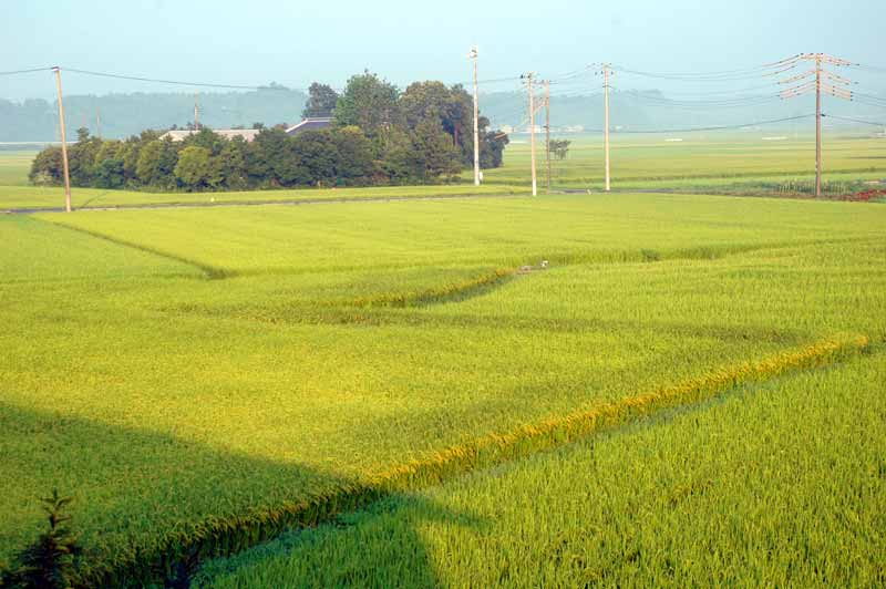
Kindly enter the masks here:
<path id="1" fill-rule="evenodd" d="M 703 190 L 771 190 L 791 180 L 815 177 L 814 137 L 787 134 L 785 141 L 763 137 L 783 133 L 688 133 L 669 136 L 614 134 L 611 154 L 615 189 L 673 188 Z M 527 135 L 514 135 L 506 151 L 506 166 L 486 170 L 486 183 L 522 185 L 529 182 Z M 601 135 L 564 135 L 573 141 L 564 161 L 554 159 L 552 184 L 559 188 L 604 187 Z M 681 142 L 669 142 L 681 138 Z M 545 186 L 544 135 L 537 137 L 539 186 Z M 824 179 L 886 180 L 886 140 L 864 136 L 826 137 Z"/>

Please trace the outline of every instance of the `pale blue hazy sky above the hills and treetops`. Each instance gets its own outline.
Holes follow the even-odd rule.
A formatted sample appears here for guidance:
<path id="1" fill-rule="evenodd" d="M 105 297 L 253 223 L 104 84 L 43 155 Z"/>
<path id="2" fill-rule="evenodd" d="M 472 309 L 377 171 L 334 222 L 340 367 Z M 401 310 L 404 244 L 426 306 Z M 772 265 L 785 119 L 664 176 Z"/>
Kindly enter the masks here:
<path id="1" fill-rule="evenodd" d="M 403 85 L 543 76 L 610 61 L 731 70 L 823 51 L 886 66 L 886 0 L 0 0 L 0 71 L 79 68 L 150 78 L 340 86 L 370 69 Z M 817 8 L 826 7 L 826 8 Z M 173 90 L 69 73 L 66 93 Z M 650 87 L 631 80 L 622 86 Z M 879 87 L 883 87 L 880 84 Z M 514 84 L 487 85 L 507 90 Z M 49 73 L 0 76 L 0 96 L 52 97 Z"/>

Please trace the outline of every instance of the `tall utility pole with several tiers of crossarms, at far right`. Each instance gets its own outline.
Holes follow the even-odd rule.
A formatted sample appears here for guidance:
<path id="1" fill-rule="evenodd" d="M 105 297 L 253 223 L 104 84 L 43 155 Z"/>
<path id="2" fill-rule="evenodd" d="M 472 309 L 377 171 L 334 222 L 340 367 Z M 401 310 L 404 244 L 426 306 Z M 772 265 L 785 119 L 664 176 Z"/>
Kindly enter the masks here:
<path id="1" fill-rule="evenodd" d="M 787 78 L 779 82 L 780 84 L 795 84 L 782 91 L 782 99 L 794 99 L 815 92 L 815 196 L 822 196 L 822 93 L 830 94 L 837 99 L 851 101 L 852 91 L 843 86 L 848 86 L 852 81 L 841 75 L 828 72 L 822 68 L 823 63 L 835 66 L 852 65 L 852 62 L 827 55 L 826 53 L 801 53 L 800 55 L 785 60 L 781 72 L 790 71 L 802 61 L 811 61 L 814 68 L 807 72 Z"/>

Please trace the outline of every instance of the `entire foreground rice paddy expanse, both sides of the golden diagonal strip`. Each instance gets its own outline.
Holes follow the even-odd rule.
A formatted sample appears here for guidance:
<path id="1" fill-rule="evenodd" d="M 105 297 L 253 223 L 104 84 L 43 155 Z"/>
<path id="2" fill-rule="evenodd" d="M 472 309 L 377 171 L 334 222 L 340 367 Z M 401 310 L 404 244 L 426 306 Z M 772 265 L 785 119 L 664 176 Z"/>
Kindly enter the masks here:
<path id="1" fill-rule="evenodd" d="M 0 569 L 58 487 L 78 587 L 886 582 L 886 206 L 532 198 L 513 153 L 490 198 L 0 216 Z"/>

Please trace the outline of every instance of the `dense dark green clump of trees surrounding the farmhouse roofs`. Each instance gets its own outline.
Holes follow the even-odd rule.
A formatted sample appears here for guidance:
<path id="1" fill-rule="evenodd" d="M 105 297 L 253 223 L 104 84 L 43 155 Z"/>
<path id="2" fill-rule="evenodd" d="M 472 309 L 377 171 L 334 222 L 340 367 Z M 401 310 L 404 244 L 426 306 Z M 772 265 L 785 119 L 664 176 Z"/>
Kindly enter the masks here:
<path id="1" fill-rule="evenodd" d="M 303 114 L 331 115 L 332 125 L 297 135 L 282 126 L 260 128 L 248 143 L 209 128 L 181 142 L 158 131 L 103 141 L 81 128 L 68 149 L 71 183 L 157 190 L 433 184 L 473 165 L 473 100 L 461 85 L 415 82 L 401 92 L 364 72 L 340 95 L 313 84 Z M 481 166 L 498 167 L 507 136 L 490 130 L 485 117 L 478 123 Z M 30 177 L 61 184 L 61 148 L 40 152 Z"/>

